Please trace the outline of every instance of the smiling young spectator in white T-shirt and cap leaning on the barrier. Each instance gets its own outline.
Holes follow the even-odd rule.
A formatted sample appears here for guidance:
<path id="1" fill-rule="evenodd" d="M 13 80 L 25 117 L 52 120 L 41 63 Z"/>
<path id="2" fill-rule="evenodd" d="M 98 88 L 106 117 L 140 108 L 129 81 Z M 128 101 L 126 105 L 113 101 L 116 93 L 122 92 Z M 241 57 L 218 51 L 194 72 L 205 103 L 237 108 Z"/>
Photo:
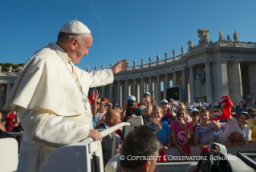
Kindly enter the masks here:
<path id="1" fill-rule="evenodd" d="M 245 146 L 251 140 L 250 126 L 247 126 L 250 116 L 246 111 L 238 115 L 238 119 L 230 117 L 226 130 L 221 135 L 220 141 L 224 140 L 223 145 Z M 228 136 L 228 137 L 227 137 Z"/>

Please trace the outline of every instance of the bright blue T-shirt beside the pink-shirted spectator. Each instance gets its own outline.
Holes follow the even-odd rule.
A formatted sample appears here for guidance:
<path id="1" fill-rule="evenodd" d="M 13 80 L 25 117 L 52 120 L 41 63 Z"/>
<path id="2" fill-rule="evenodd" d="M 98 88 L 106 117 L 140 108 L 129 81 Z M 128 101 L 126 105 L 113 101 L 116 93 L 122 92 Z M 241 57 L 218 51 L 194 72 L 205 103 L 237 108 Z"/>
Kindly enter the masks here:
<path id="1" fill-rule="evenodd" d="M 152 128 L 156 128 L 154 122 L 151 122 L 148 126 L 151 126 Z M 171 134 L 171 130 L 168 124 L 163 123 L 161 130 L 159 130 L 156 133 L 156 136 L 159 138 L 159 140 L 162 142 L 163 146 L 167 146 L 168 140 L 167 135 Z"/>

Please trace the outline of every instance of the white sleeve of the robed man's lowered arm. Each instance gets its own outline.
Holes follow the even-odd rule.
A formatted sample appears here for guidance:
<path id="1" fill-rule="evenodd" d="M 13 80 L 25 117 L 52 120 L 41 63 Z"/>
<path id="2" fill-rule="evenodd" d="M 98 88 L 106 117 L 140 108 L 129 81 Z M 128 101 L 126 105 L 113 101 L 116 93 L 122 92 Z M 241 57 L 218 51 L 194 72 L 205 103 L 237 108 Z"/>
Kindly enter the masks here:
<path id="1" fill-rule="evenodd" d="M 51 147 L 65 146 L 87 138 L 90 129 L 79 126 L 63 116 L 49 114 L 49 110 L 18 108 L 24 132 L 35 142 Z"/>

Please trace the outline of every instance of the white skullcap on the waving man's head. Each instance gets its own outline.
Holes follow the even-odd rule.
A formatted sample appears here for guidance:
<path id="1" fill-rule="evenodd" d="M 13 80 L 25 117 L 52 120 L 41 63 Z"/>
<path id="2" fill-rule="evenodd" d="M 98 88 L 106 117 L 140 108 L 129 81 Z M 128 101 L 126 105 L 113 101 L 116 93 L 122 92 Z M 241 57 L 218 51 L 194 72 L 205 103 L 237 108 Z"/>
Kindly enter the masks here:
<path id="1" fill-rule="evenodd" d="M 67 34 L 89 34 L 89 33 L 91 33 L 91 31 L 87 28 L 87 26 L 83 25 L 82 22 L 79 22 L 76 19 L 64 24 L 60 28 L 59 31 L 67 33 Z"/>

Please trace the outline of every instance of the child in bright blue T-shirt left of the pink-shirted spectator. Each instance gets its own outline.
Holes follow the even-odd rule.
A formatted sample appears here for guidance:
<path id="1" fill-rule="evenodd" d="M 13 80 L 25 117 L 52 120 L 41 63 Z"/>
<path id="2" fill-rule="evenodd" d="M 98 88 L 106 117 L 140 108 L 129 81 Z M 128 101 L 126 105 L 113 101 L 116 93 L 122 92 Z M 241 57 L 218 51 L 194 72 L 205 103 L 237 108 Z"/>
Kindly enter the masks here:
<path id="1" fill-rule="evenodd" d="M 165 152 L 171 146 L 171 130 L 167 123 L 161 122 L 161 118 L 163 117 L 163 110 L 160 107 L 156 107 L 153 110 L 153 114 L 150 120 L 152 121 L 149 123 L 148 126 L 152 128 L 156 128 L 157 133 L 156 136 L 162 142 L 161 151 Z"/>

